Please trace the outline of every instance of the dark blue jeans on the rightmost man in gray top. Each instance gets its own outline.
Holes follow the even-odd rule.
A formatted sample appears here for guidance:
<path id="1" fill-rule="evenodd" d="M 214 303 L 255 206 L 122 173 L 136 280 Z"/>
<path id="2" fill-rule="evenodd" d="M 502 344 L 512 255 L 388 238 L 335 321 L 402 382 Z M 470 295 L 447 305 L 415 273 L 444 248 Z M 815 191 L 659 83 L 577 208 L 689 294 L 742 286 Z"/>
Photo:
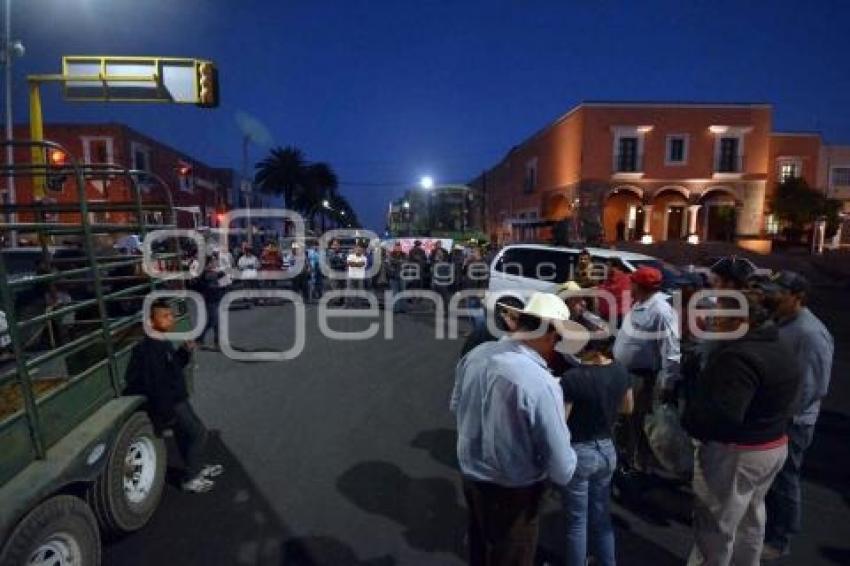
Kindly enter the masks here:
<path id="1" fill-rule="evenodd" d="M 815 425 L 792 424 L 788 427 L 788 458 L 764 499 L 767 511 L 764 542 L 782 551 L 788 549 L 791 536 L 802 530 L 800 475 L 803 454 L 812 444 L 814 434 Z"/>

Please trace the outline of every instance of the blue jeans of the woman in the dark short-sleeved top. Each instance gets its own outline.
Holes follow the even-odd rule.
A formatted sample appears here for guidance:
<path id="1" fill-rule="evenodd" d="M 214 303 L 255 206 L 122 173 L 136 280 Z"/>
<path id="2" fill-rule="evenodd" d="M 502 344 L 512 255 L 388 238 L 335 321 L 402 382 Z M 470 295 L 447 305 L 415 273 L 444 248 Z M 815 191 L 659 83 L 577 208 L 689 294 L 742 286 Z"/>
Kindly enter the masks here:
<path id="1" fill-rule="evenodd" d="M 564 488 L 567 519 L 567 565 L 584 566 L 587 555 L 596 564 L 613 566 L 614 527 L 611 524 L 611 477 L 617 452 L 610 439 L 578 442 L 576 471 Z"/>

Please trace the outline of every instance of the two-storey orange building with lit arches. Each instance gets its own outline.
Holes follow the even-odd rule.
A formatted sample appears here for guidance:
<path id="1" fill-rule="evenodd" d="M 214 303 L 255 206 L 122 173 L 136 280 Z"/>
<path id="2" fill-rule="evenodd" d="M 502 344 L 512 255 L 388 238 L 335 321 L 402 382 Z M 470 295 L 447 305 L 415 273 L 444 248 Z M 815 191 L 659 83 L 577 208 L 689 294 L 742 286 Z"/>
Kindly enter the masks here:
<path id="1" fill-rule="evenodd" d="M 820 151 L 817 134 L 774 133 L 768 104 L 586 102 L 472 184 L 499 242 L 564 219 L 607 241 L 758 239 L 781 178 L 818 185 Z"/>

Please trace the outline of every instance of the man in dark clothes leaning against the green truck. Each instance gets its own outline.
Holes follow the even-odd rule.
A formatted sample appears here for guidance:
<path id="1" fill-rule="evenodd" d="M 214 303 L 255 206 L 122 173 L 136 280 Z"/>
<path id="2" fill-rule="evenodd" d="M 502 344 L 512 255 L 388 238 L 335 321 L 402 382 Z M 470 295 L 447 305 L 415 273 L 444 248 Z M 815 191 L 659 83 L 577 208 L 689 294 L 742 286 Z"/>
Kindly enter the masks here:
<path id="1" fill-rule="evenodd" d="M 174 313 L 164 299 L 151 305 L 150 326 L 156 333 L 174 329 Z M 189 404 L 189 391 L 183 368 L 197 345 L 186 342 L 175 350 L 170 341 L 146 334 L 130 358 L 125 395 L 144 395 L 148 413 L 157 430 L 174 431 L 177 448 L 186 465 L 181 486 L 184 491 L 202 493 L 213 487 L 211 478 L 222 473 L 220 465 L 203 465 L 208 432 Z"/>

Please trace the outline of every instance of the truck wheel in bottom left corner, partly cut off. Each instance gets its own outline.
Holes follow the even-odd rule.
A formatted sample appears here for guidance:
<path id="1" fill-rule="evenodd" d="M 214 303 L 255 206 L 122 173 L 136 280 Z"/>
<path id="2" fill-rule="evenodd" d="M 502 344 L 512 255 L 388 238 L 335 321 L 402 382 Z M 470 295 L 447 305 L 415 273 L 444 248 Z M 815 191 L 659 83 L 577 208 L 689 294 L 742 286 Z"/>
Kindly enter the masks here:
<path id="1" fill-rule="evenodd" d="M 0 553 L 0 566 L 99 566 L 100 533 L 89 506 L 57 495 L 30 511 Z"/>

